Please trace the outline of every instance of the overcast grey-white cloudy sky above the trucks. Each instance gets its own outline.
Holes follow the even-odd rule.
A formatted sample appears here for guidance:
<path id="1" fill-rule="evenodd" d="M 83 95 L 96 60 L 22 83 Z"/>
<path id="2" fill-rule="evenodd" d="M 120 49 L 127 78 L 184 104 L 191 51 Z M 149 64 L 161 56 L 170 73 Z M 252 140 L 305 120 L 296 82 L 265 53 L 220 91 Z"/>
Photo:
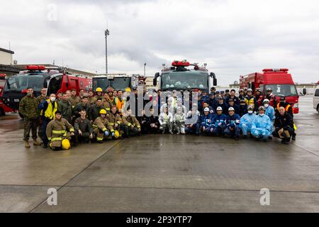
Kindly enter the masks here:
<path id="1" fill-rule="evenodd" d="M 264 68 L 289 68 L 295 82 L 319 80 L 316 0 L 51 0 L 5 1 L 0 47 L 18 64 L 63 64 L 152 76 L 162 63 L 208 63 L 218 84 Z"/>

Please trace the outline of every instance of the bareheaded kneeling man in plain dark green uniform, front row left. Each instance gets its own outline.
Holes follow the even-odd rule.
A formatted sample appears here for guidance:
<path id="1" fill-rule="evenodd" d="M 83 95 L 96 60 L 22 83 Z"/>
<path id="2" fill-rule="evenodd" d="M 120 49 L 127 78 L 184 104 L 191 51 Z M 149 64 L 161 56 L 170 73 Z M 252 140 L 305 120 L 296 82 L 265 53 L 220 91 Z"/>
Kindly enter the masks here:
<path id="1" fill-rule="evenodd" d="M 80 117 L 74 121 L 74 146 L 77 146 L 79 142 L 89 143 L 93 138 L 93 128 L 89 119 L 86 118 L 86 110 L 82 109 L 79 114 Z"/>

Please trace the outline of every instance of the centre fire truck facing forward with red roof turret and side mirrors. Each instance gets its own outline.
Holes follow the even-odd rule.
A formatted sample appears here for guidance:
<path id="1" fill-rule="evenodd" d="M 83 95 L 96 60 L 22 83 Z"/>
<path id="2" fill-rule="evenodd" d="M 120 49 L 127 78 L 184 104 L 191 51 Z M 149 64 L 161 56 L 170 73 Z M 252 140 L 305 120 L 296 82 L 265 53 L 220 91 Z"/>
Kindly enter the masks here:
<path id="1" fill-rule="evenodd" d="M 198 63 L 189 63 L 186 60 L 172 62 L 172 67 L 163 65 L 162 72 L 157 72 L 153 85 L 159 85 L 162 91 L 169 90 L 208 90 L 217 85 L 215 73 L 208 73 L 206 65 L 199 67 Z M 188 69 L 187 67 L 194 67 Z"/>

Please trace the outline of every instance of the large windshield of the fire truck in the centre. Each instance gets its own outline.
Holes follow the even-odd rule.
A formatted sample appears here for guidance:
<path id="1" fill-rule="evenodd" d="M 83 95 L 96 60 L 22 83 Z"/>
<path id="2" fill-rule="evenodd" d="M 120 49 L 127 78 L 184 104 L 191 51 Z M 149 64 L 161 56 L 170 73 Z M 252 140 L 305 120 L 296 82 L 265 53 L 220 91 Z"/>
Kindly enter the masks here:
<path id="1" fill-rule="evenodd" d="M 162 74 L 161 88 L 208 89 L 208 74 L 198 72 L 169 72 Z"/>

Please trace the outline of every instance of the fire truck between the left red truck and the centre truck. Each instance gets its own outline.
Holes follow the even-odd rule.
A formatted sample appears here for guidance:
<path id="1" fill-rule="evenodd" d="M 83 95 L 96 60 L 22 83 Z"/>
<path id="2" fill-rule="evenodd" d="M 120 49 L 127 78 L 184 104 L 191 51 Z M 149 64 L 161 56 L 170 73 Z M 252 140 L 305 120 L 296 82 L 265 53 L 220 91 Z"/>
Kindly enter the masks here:
<path id="1" fill-rule="evenodd" d="M 116 91 L 122 90 L 125 91 L 125 88 L 129 87 L 131 90 L 137 88 L 140 75 L 133 74 L 99 74 L 92 79 L 93 81 L 93 90 L 101 87 L 103 91 L 106 91 L 108 87 L 113 87 Z"/>

